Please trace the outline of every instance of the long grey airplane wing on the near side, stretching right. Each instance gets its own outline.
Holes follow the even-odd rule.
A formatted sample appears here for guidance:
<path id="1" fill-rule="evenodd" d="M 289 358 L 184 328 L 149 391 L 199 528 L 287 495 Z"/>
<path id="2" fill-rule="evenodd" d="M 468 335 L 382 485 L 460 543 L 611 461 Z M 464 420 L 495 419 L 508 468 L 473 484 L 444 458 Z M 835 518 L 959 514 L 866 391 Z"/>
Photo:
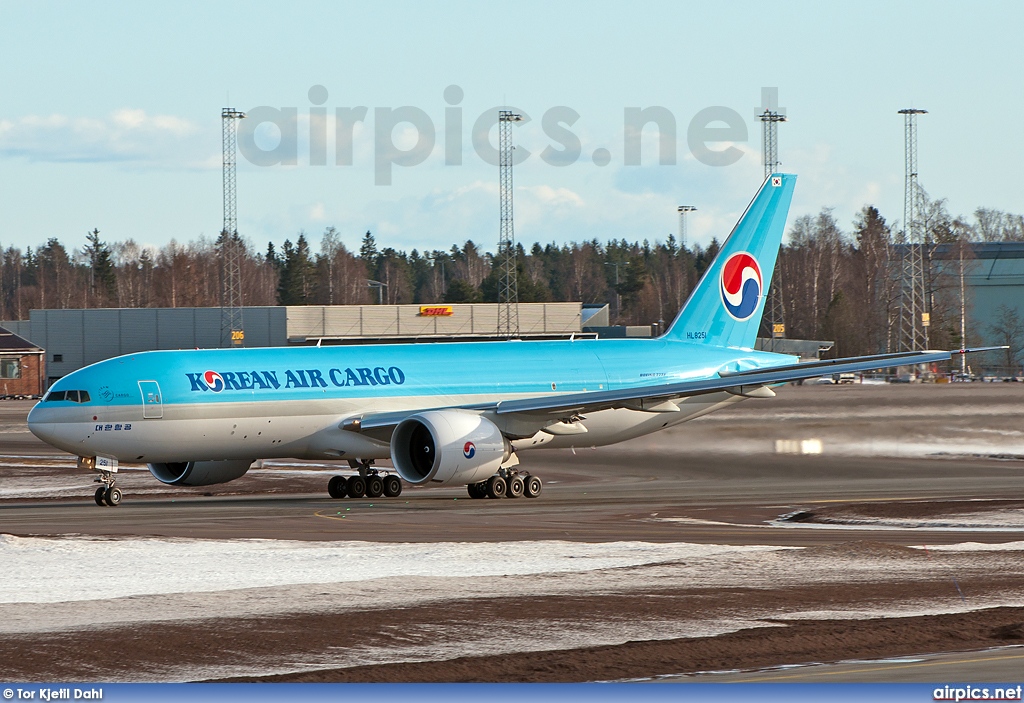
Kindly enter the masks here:
<path id="1" fill-rule="evenodd" d="M 659 403 L 665 403 L 673 399 L 721 391 L 733 393 L 734 395 L 757 397 L 758 392 L 762 388 L 790 381 L 814 379 L 834 374 L 853 374 L 877 368 L 948 361 L 954 354 L 970 354 L 1002 348 L 979 347 L 975 349 L 957 349 L 954 351 L 920 351 L 878 354 L 873 356 L 854 356 L 843 359 L 827 359 L 824 361 L 811 361 L 772 368 L 722 374 L 700 381 L 633 386 L 616 390 L 566 393 L 449 407 L 493 412 L 497 415 L 521 413 L 523 415 L 534 415 L 535 418 L 537 415 L 564 415 L 567 418 L 578 413 L 596 412 L 615 407 L 632 407 L 636 409 L 645 407 L 654 408 Z M 763 393 L 763 391 L 761 392 Z M 674 408 L 666 406 L 666 409 L 671 410 Z M 346 420 L 342 423 L 341 428 L 355 432 L 370 432 L 375 435 L 381 435 L 383 438 L 385 435 L 390 435 L 390 430 L 402 420 L 420 411 L 422 409 L 367 413 L 358 418 Z"/>

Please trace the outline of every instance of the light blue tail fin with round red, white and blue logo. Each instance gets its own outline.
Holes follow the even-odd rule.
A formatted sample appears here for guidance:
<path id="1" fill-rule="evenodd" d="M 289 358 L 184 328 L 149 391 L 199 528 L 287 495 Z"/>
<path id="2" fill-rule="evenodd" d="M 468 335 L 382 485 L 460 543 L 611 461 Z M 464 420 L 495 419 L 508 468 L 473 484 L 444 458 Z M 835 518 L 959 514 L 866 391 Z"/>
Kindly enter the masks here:
<path id="1" fill-rule="evenodd" d="M 773 173 L 665 333 L 667 339 L 752 348 L 771 287 L 797 177 Z"/>

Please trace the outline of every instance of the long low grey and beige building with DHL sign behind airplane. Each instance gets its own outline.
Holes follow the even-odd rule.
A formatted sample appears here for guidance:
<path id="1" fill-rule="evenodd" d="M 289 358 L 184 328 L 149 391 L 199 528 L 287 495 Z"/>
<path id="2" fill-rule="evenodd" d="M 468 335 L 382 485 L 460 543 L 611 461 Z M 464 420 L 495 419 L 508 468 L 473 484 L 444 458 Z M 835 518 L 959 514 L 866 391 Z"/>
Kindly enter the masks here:
<path id="1" fill-rule="evenodd" d="M 245 346 L 501 339 L 498 307 L 496 303 L 246 307 Z M 518 310 L 523 339 L 579 337 L 587 334 L 588 324 L 608 324 L 606 305 L 520 303 Z M 45 374 L 40 377 L 46 386 L 122 354 L 224 346 L 220 308 L 32 310 L 28 320 L 0 324 L 36 349 L 40 358 L 46 350 Z"/>

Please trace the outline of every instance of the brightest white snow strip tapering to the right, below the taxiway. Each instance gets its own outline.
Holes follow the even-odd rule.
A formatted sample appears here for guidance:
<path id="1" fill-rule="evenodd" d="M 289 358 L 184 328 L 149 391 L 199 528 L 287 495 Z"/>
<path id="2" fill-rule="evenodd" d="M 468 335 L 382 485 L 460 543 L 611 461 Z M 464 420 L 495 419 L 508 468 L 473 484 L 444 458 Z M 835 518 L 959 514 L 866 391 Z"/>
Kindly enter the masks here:
<path id="1" fill-rule="evenodd" d="M 0 535 L 0 604 L 94 601 L 388 577 L 570 573 L 774 552 L 649 542 L 301 542 Z M 42 587 L 45 584 L 45 587 Z"/>

